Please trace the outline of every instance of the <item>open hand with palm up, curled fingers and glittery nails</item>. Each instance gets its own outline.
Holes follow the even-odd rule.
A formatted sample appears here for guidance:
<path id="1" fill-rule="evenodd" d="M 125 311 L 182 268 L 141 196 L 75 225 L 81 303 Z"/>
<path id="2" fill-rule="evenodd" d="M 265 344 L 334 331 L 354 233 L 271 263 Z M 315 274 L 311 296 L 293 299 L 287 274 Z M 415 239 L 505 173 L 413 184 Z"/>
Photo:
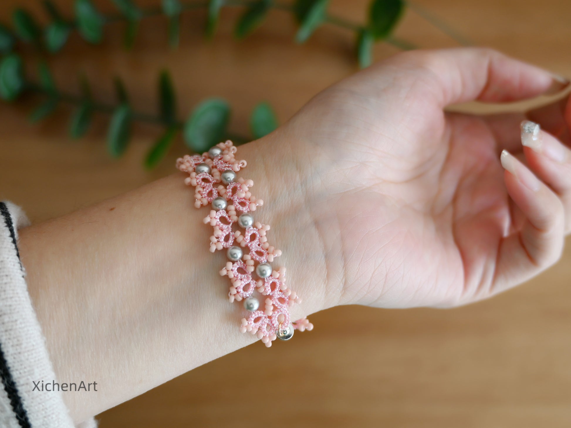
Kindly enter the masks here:
<path id="1" fill-rule="evenodd" d="M 327 293 L 342 304 L 456 306 L 554 264 L 571 229 L 569 148 L 541 131 L 536 140 L 525 137 L 536 151 L 522 150 L 524 114 L 444 108 L 565 86 L 492 50 L 416 51 L 311 100 L 274 140 L 297 154 L 325 252 Z M 569 144 L 571 107 L 564 103 L 528 116 Z M 521 162 L 504 154 L 502 168 L 504 149 Z"/>

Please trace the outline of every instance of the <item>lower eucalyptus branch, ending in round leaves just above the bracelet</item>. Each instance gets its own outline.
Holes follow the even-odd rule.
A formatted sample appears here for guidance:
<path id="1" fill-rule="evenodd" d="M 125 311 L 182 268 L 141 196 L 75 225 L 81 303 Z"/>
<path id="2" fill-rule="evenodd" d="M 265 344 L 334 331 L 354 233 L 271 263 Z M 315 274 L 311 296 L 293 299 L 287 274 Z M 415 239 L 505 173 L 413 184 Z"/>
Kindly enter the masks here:
<path id="1" fill-rule="evenodd" d="M 134 122 L 155 124 L 163 128 L 163 134 L 150 148 L 144 165 L 152 168 L 166 155 L 176 135 L 182 134 L 186 145 L 195 152 L 204 152 L 217 142 L 232 139 L 236 143 L 245 143 L 261 138 L 278 127 L 275 113 L 268 103 L 259 103 L 250 119 L 251 136 L 236 134 L 228 130 L 230 104 L 226 100 L 211 98 L 203 100 L 194 108 L 186 121 L 176 116 L 175 91 L 170 75 L 163 71 L 158 79 L 158 114 L 147 114 L 131 107 L 123 82 L 115 79 L 116 103 L 103 103 L 95 100 L 89 82 L 81 78 L 82 94 L 75 95 L 59 90 L 46 63 L 38 67 L 38 80 L 25 76 L 22 59 L 11 54 L 0 63 L 0 95 L 14 100 L 23 92 L 31 92 L 45 97 L 30 114 L 33 122 L 50 115 L 61 103 L 75 107 L 70 122 L 70 134 L 80 138 L 89 130 L 94 112 L 111 116 L 107 135 L 107 148 L 110 155 L 118 157 L 127 149 L 131 127 Z"/>

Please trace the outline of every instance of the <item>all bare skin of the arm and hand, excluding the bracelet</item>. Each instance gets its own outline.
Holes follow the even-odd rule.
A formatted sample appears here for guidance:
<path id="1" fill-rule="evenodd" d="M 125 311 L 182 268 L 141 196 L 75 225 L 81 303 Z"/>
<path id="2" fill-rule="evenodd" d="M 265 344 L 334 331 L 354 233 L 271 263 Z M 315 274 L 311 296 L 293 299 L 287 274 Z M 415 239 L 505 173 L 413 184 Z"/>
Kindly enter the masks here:
<path id="1" fill-rule="evenodd" d="M 254 215 L 283 251 L 274 265 L 303 298 L 292 319 L 344 304 L 464 305 L 556 263 L 571 229 L 567 100 L 528 112 L 544 127 L 536 151 L 521 146 L 524 114 L 444 108 L 565 86 L 492 50 L 404 53 L 241 146 L 239 175 L 265 201 Z M 502 167 L 504 149 L 522 162 L 504 155 Z M 77 422 L 256 340 L 238 332 L 240 305 L 224 304 L 226 258 L 208 252 L 208 210 L 183 179 L 21 231 L 55 373 L 101 391 L 64 394 Z"/>

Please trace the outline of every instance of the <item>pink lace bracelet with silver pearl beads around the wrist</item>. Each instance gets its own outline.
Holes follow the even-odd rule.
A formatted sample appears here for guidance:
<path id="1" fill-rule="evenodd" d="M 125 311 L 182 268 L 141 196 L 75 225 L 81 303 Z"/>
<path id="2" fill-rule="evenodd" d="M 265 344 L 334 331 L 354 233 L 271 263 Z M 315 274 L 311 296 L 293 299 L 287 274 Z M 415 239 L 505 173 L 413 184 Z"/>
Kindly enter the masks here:
<path id="1" fill-rule="evenodd" d="M 243 301 L 244 309 L 250 312 L 242 318 L 240 332 L 256 334 L 269 348 L 276 338 L 289 340 L 294 330 L 312 330 L 313 324 L 307 318 L 290 321 L 289 306 L 301 300 L 286 286 L 286 268 L 273 270 L 270 265 L 282 252 L 268 244 L 266 232 L 270 225 L 254 222 L 251 212 L 264 202 L 252 196 L 252 180 L 237 178 L 236 172 L 246 167 L 246 161 L 236 161 L 236 150 L 228 140 L 202 155 L 177 159 L 176 167 L 190 175 L 184 183 L 196 189 L 194 206 L 212 206 L 210 215 L 204 219 L 205 224 L 214 226 L 210 251 L 227 249 L 230 261 L 220 275 L 230 278 L 228 298 L 230 302 Z M 233 232 L 234 223 L 244 232 Z M 242 250 L 246 247 L 248 254 Z M 259 278 L 257 281 L 252 278 L 253 272 Z M 260 302 L 254 297 L 255 292 L 266 296 L 264 310 L 258 310 Z"/>

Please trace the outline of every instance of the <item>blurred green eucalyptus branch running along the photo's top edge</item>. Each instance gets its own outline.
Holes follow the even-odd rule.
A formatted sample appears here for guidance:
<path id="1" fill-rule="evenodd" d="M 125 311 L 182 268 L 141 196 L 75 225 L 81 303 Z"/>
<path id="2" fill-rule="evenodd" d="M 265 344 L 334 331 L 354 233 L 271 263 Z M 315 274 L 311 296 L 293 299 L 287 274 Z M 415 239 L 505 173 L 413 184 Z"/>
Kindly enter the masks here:
<path id="1" fill-rule="evenodd" d="M 399 21 L 405 5 L 408 4 L 405 0 L 373 0 L 369 11 L 369 20 L 363 25 L 329 14 L 327 12 L 328 0 L 295 0 L 292 3 L 274 0 L 162 0 L 161 6 L 150 7 L 139 7 L 133 0 L 112 1 L 118 8 L 118 12 L 103 14 L 95 8 L 91 0 L 75 0 L 75 17 L 70 19 L 63 17 L 53 2 L 45 0 L 43 3 L 52 22 L 43 30 L 27 11 L 17 9 L 13 15 L 14 31 L 9 30 L 6 26 L 0 26 L 0 51 L 11 50 L 14 42 L 19 39 L 34 43 L 38 47 L 45 45 L 47 50 L 55 53 L 65 45 L 70 32 L 73 30 L 79 31 L 86 41 L 99 43 L 102 41 L 104 25 L 114 22 L 127 24 L 124 39 L 126 47 L 130 48 L 135 41 L 139 21 L 158 15 L 168 17 L 169 42 L 171 46 L 177 46 L 180 15 L 186 11 L 207 9 L 207 34 L 212 36 L 216 29 L 220 10 L 223 7 L 245 9 L 236 25 L 235 34 L 238 38 L 246 37 L 252 33 L 271 9 L 285 11 L 296 18 L 299 22 L 299 30 L 295 39 L 299 43 L 305 42 L 321 24 L 329 24 L 352 31 L 357 35 L 356 51 L 361 66 L 367 66 L 370 63 L 368 59 L 369 57 L 372 58 L 371 54 L 363 55 L 360 53 L 365 49 L 371 50 L 373 42 L 389 43 L 404 50 L 415 49 L 412 43 L 391 37 L 392 30 Z M 424 9 L 413 4 L 410 6 L 429 22 L 455 38 L 460 44 L 468 43 L 465 38 L 445 25 L 444 22 L 428 14 Z M 365 41 L 363 41 L 363 34 L 367 35 Z"/>

